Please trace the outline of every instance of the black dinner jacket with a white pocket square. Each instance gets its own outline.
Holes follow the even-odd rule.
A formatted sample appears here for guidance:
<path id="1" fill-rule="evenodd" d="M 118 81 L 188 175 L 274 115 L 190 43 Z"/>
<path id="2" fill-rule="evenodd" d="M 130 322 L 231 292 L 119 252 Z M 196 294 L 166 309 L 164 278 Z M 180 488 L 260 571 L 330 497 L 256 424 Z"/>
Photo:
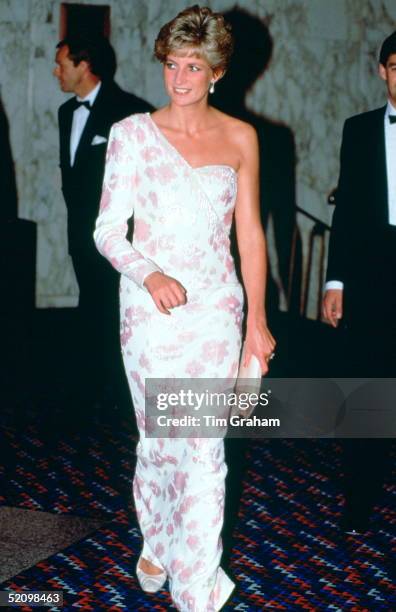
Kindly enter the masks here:
<path id="1" fill-rule="evenodd" d="M 70 133 L 74 100 L 59 108 L 60 168 L 62 192 L 68 211 L 69 253 L 94 247 L 92 234 L 98 214 L 107 139 L 113 123 L 133 113 L 150 112 L 153 107 L 133 94 L 123 91 L 116 83 L 101 84 L 90 110 L 87 123 L 76 151 L 74 165 L 70 165 Z M 92 144 L 95 136 L 106 139 Z"/>

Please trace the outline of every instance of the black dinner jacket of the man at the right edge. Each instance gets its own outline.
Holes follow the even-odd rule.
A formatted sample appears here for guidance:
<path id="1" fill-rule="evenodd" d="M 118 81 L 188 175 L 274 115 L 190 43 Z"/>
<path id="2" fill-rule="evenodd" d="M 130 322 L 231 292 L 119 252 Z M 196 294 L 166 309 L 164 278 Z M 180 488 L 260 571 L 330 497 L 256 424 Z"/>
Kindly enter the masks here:
<path id="1" fill-rule="evenodd" d="M 384 236 L 389 225 L 385 110 L 386 106 L 347 119 L 342 136 L 326 279 L 344 283 L 350 316 L 362 312 L 364 304 L 370 316 L 367 295 L 374 295 L 376 284 L 384 283 Z"/>

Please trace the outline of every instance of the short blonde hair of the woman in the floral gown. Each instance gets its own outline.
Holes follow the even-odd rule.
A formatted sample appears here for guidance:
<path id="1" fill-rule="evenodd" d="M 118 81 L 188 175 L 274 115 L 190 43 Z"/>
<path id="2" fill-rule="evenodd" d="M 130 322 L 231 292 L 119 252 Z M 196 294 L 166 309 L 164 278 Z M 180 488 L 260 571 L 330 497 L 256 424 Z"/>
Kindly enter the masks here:
<path id="1" fill-rule="evenodd" d="M 225 70 L 233 47 L 231 26 L 223 15 L 195 4 L 162 26 L 154 53 L 160 62 L 165 62 L 170 53 L 187 50 L 188 55 L 205 59 L 213 70 Z"/>

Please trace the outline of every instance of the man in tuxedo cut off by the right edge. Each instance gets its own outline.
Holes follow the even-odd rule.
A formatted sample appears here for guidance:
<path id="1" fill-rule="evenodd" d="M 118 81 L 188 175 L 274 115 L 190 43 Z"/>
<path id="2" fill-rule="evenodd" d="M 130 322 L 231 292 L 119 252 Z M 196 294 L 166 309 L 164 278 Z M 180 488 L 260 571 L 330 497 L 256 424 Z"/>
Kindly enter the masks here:
<path id="1" fill-rule="evenodd" d="M 382 44 L 379 75 L 386 106 L 344 126 L 323 299 L 324 317 L 345 325 L 345 374 L 358 378 L 396 376 L 396 32 Z M 344 531 L 368 530 L 389 446 L 344 440 Z"/>

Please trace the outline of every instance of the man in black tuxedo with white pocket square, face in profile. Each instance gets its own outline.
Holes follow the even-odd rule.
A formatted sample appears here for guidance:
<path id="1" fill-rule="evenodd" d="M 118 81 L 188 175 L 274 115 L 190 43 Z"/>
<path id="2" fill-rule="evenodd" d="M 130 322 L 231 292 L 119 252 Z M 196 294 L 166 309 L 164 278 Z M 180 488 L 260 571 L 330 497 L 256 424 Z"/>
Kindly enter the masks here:
<path id="1" fill-rule="evenodd" d="M 58 118 L 69 254 L 80 290 L 76 395 L 86 409 L 106 399 L 118 402 L 117 381 L 125 384 L 118 343 L 118 273 L 98 253 L 92 237 L 107 139 L 114 122 L 152 107 L 114 82 L 115 54 L 104 38 L 65 38 L 57 45 L 55 62 L 61 90 L 75 94 L 59 108 Z"/>

